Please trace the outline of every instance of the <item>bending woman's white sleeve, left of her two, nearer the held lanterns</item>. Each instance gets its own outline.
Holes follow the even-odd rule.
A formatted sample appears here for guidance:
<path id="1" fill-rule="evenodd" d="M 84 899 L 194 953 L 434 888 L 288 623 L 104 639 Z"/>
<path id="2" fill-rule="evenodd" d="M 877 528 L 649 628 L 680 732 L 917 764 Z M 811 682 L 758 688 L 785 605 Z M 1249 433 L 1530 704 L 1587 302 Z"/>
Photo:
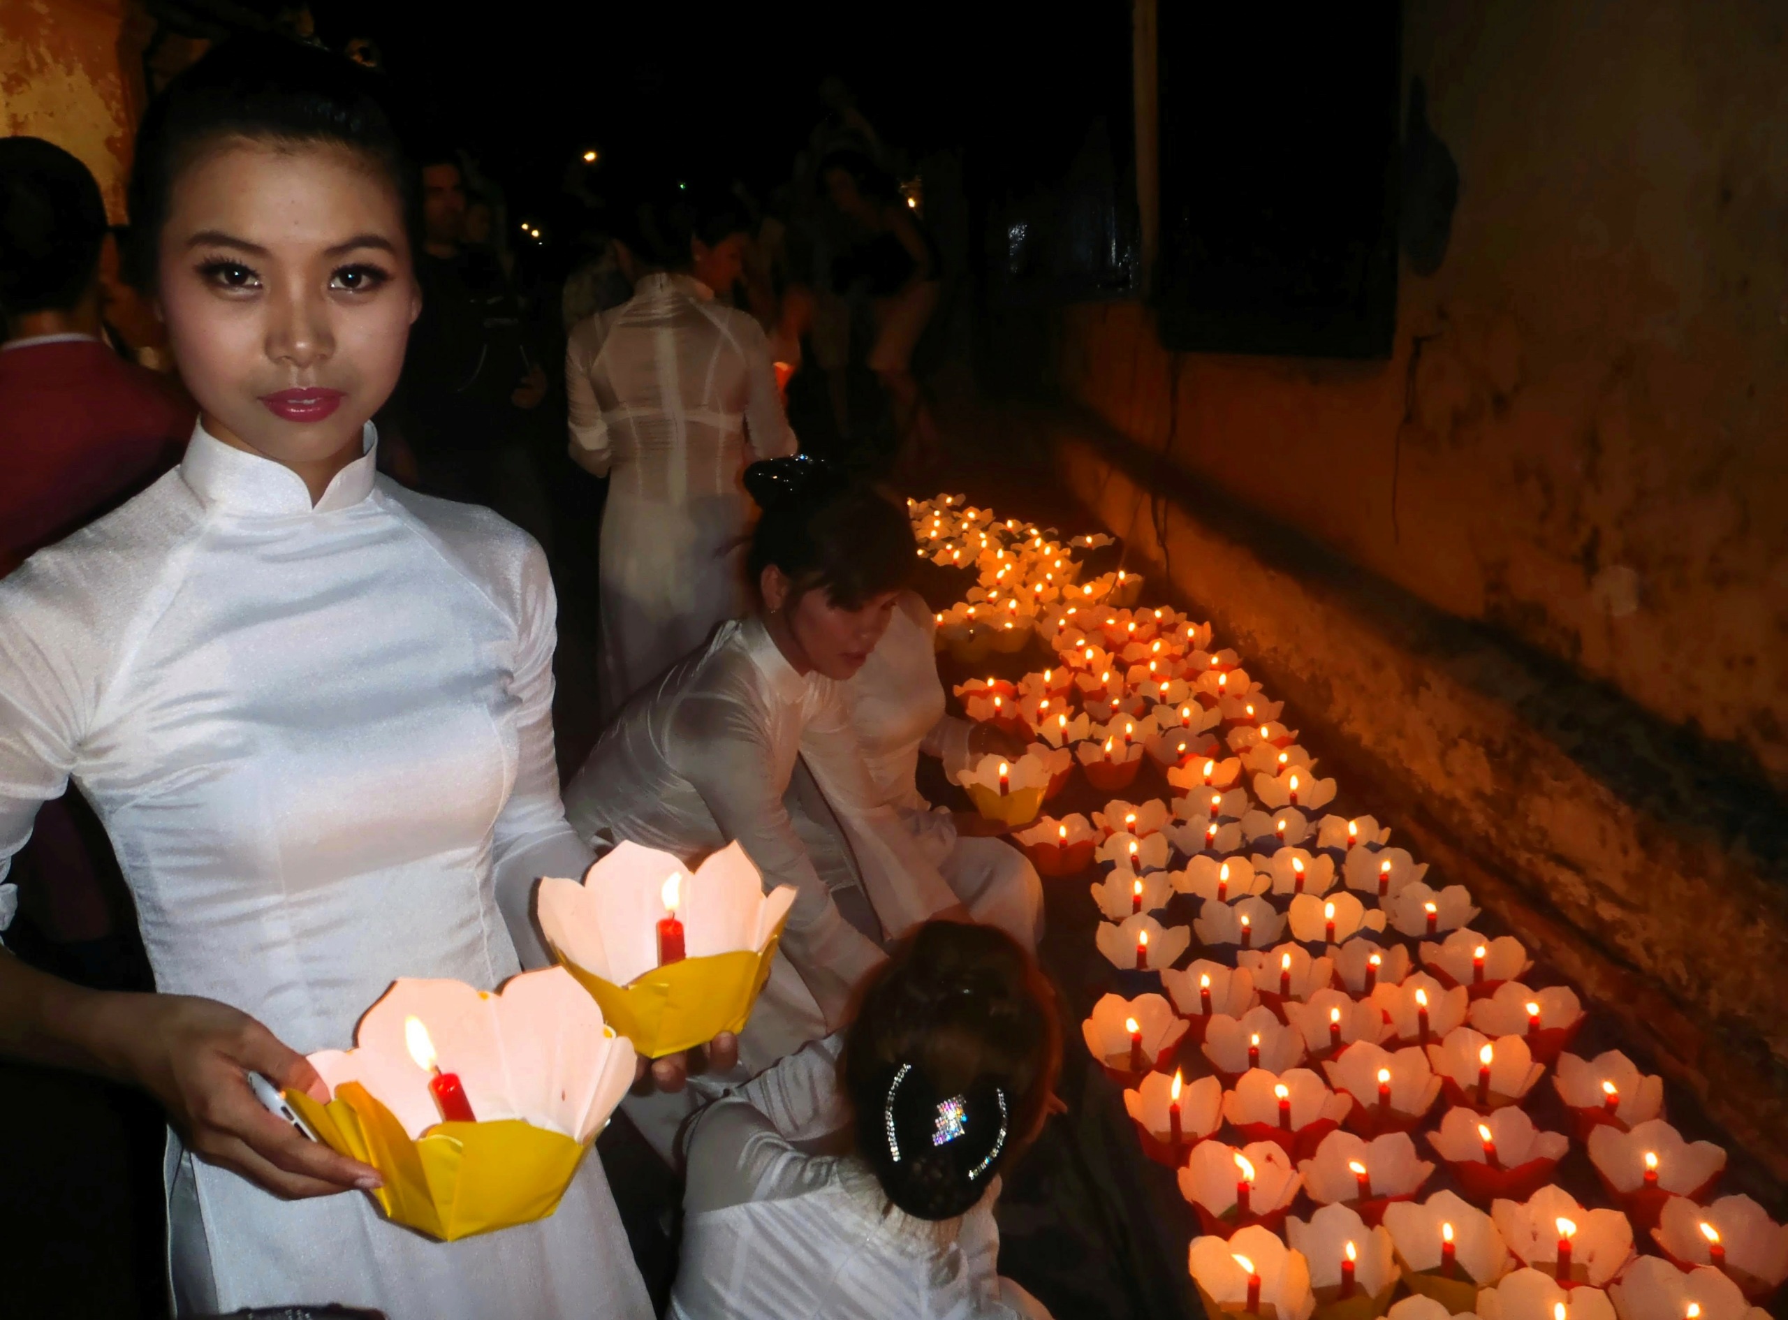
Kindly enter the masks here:
<path id="1" fill-rule="evenodd" d="M 674 721 L 667 755 L 676 773 L 701 794 L 721 833 L 746 850 L 765 889 L 794 887 L 781 948 L 828 1027 L 840 1027 L 851 993 L 883 953 L 844 919 L 801 846 L 781 798 L 787 785 L 769 773 L 765 730 L 742 701 L 724 696 L 688 698 Z"/>

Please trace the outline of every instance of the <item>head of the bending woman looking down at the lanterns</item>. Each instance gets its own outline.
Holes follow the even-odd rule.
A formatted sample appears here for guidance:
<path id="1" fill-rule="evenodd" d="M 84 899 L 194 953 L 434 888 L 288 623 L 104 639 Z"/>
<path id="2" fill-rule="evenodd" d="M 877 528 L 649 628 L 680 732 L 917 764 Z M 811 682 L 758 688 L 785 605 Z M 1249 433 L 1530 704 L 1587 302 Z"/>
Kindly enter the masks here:
<path id="1" fill-rule="evenodd" d="M 894 495 L 814 458 L 746 469 L 763 510 L 747 567 L 771 633 L 803 671 L 844 680 L 876 649 L 917 563 Z"/>

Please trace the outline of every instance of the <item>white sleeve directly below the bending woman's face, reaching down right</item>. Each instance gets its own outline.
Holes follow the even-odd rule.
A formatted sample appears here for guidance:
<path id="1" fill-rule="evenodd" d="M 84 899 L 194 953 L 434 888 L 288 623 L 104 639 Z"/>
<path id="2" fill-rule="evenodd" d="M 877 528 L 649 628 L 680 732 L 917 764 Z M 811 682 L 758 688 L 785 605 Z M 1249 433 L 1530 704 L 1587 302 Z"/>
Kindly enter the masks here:
<path id="1" fill-rule="evenodd" d="M 899 937 L 953 907 L 955 891 L 919 848 L 899 812 L 881 801 L 851 728 L 844 696 L 828 685 L 801 730 L 801 755 L 831 803 L 864 873 L 881 927 Z"/>

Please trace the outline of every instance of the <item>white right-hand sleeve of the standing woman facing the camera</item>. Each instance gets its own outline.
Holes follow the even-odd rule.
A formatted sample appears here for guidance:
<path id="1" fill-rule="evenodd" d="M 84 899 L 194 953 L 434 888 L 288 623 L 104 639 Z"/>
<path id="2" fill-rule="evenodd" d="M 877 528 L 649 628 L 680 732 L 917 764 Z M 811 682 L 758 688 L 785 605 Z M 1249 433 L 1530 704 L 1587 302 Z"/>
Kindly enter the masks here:
<path id="1" fill-rule="evenodd" d="M 594 853 L 565 821 L 558 760 L 552 751 L 552 647 L 558 639 L 558 603 L 547 558 L 529 542 L 522 567 L 520 639 L 511 694 L 517 715 L 515 787 L 497 816 L 492 841 L 497 907 L 522 968 L 544 968 L 551 959 L 535 927 L 535 882 L 544 875 L 583 876 Z"/>

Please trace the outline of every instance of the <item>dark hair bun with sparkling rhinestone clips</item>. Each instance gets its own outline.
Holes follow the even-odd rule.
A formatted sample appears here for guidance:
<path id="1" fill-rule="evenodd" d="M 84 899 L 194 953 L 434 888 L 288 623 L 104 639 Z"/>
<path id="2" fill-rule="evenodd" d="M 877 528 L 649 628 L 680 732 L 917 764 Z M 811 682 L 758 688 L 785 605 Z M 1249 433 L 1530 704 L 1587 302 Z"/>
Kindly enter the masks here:
<path id="1" fill-rule="evenodd" d="M 912 1062 L 887 1070 L 880 1109 L 858 1113 L 858 1150 L 889 1200 L 921 1220 L 953 1220 L 987 1191 L 1005 1155 L 1012 1113 L 1003 1087 L 976 1080 L 940 1096 Z"/>

